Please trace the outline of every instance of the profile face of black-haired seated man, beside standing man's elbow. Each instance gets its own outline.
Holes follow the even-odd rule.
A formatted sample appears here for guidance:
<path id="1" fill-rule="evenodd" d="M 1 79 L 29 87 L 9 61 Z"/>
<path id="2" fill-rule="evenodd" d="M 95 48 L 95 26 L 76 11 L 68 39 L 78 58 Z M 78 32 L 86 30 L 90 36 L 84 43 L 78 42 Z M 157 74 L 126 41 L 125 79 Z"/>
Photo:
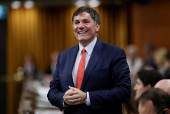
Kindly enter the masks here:
<path id="1" fill-rule="evenodd" d="M 148 88 L 147 87 L 144 87 L 142 81 L 137 78 L 137 82 L 135 84 L 135 87 L 134 87 L 134 90 L 135 90 L 135 100 L 137 100 L 144 91 L 146 91 Z"/>

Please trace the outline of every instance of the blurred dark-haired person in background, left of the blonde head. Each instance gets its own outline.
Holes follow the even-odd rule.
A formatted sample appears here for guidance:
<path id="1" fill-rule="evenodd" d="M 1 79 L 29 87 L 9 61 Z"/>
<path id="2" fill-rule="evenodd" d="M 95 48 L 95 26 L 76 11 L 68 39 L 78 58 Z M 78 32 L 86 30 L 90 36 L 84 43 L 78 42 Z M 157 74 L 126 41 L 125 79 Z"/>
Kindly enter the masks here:
<path id="1" fill-rule="evenodd" d="M 153 53 L 155 47 L 154 45 L 147 43 L 143 45 L 143 57 L 144 57 L 144 65 L 143 68 L 146 70 L 156 70 L 157 66 L 155 61 L 153 60 Z"/>

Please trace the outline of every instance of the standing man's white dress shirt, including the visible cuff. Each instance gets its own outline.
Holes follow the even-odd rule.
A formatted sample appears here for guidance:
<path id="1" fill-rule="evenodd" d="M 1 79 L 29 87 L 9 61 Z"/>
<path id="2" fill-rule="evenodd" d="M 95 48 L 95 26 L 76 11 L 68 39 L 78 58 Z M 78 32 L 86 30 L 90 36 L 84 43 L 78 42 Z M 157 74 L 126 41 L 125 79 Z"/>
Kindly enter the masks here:
<path id="1" fill-rule="evenodd" d="M 79 51 L 77 53 L 76 61 L 74 63 L 74 67 L 73 67 L 73 70 L 72 70 L 72 78 L 73 78 L 73 82 L 74 82 L 75 87 L 76 87 L 76 79 L 77 79 L 77 70 L 78 70 L 79 62 L 80 62 L 80 59 L 81 59 L 81 56 L 82 56 L 82 49 L 85 48 L 85 50 L 86 50 L 86 60 L 85 60 L 85 69 L 86 69 L 96 42 L 97 42 L 97 37 L 90 44 L 88 44 L 86 47 L 83 47 L 79 43 Z M 87 92 L 86 105 L 90 106 L 89 92 Z"/>

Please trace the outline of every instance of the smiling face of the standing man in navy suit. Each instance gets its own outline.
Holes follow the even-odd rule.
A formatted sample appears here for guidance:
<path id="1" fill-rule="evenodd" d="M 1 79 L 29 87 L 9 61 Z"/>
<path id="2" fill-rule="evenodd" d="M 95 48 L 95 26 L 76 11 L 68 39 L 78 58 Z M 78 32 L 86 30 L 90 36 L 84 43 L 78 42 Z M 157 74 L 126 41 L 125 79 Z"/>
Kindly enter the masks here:
<path id="1" fill-rule="evenodd" d="M 100 25 L 94 23 L 94 20 L 87 12 L 82 12 L 74 16 L 73 29 L 74 34 L 82 46 L 87 46 L 97 36 Z"/>

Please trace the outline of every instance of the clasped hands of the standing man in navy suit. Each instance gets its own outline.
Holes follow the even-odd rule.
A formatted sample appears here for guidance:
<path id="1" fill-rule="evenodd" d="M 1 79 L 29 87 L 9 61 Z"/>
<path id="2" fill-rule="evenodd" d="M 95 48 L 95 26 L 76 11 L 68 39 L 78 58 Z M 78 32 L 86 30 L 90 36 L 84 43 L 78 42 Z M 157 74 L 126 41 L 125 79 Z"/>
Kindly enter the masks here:
<path id="1" fill-rule="evenodd" d="M 85 100 L 86 100 L 85 92 L 70 86 L 69 90 L 67 90 L 64 95 L 64 102 L 67 105 L 83 104 Z"/>

